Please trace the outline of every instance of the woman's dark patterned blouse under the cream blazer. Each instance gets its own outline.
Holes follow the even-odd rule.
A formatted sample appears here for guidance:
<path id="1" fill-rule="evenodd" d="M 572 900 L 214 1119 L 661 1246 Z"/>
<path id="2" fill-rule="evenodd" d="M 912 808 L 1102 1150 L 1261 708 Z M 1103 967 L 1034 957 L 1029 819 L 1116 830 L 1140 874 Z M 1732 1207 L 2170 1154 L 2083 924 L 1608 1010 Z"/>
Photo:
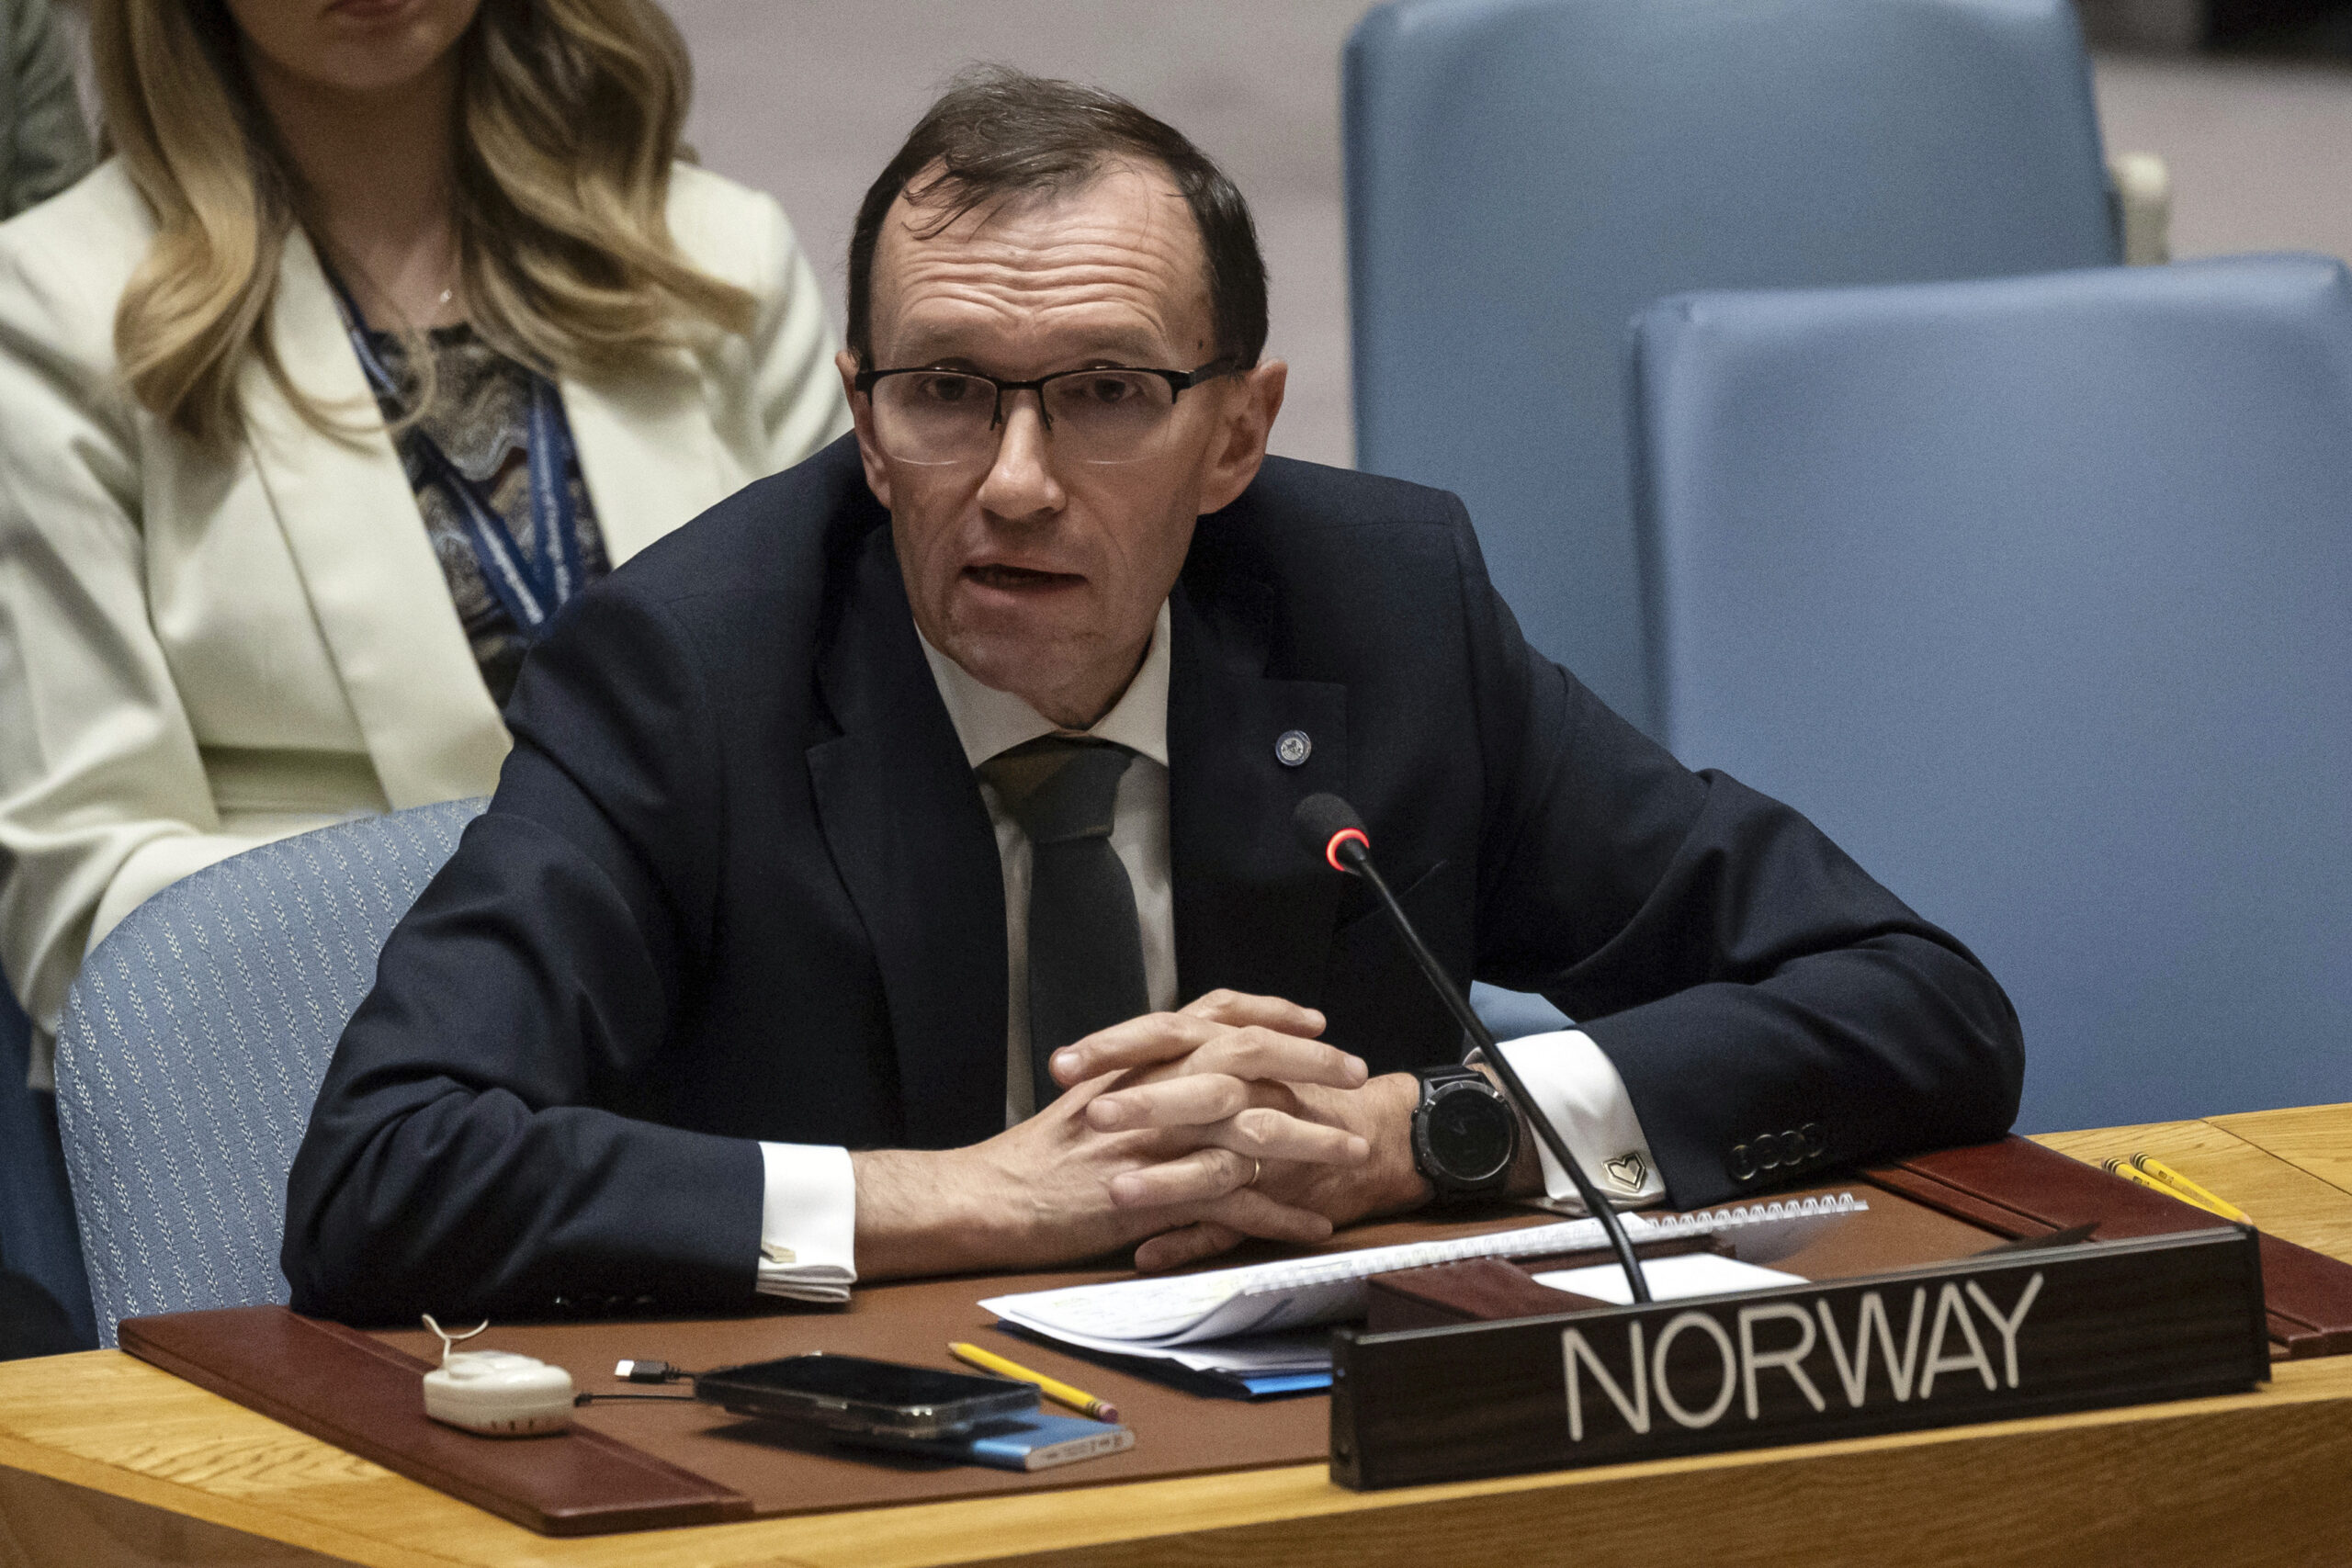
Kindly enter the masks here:
<path id="1" fill-rule="evenodd" d="M 489 343 L 473 334 L 473 327 L 435 327 L 426 334 L 433 348 L 437 386 L 433 404 L 416 421 L 426 435 L 449 456 L 459 473 L 473 480 L 492 510 L 506 522 L 515 548 L 532 559 L 532 376 Z M 393 381 L 409 386 L 407 350 L 397 334 L 369 331 L 369 348 L 390 371 Z M 381 400 L 383 418 L 397 418 L 400 409 Z M 416 491 L 416 510 L 426 520 L 426 538 L 440 557 L 442 578 L 456 602 L 456 618 L 473 644 L 473 661 L 482 668 L 482 684 L 489 698 L 506 708 L 515 691 L 515 675 L 529 639 L 499 604 L 499 595 L 482 581 L 482 562 L 475 557 L 473 538 L 449 494 L 433 480 L 433 470 L 407 442 L 400 447 L 400 463 Z M 604 559 L 604 534 L 597 529 L 595 508 L 588 503 L 588 484 L 581 480 L 579 461 L 564 463 L 564 484 L 572 489 L 572 515 L 581 545 L 581 588 L 595 583 L 612 564 Z"/>

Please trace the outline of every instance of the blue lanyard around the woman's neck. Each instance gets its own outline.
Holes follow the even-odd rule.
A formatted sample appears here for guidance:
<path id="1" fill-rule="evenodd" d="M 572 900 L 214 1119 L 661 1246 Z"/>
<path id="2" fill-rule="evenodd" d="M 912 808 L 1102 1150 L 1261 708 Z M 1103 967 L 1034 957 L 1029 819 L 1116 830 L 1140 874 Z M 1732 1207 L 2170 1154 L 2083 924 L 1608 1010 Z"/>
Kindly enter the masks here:
<path id="1" fill-rule="evenodd" d="M 367 386 L 379 400 L 397 404 L 400 383 L 393 381 L 393 374 L 376 357 L 374 346 L 369 346 L 367 320 L 360 315 L 358 301 L 350 299 L 339 277 L 329 277 L 329 282 L 343 301 L 343 329 L 350 334 L 353 353 L 360 355 L 360 369 L 367 371 Z M 524 557 L 515 534 L 506 527 L 506 517 L 489 505 L 482 487 L 449 461 L 440 442 L 426 435 L 421 425 L 409 425 L 400 440 L 423 461 L 426 475 L 440 484 L 442 494 L 449 496 L 449 505 L 456 508 L 473 543 L 473 555 L 482 567 L 482 581 L 489 583 L 489 592 L 499 599 L 506 618 L 515 623 L 515 632 L 524 642 L 536 642 L 555 611 L 572 602 L 586 583 L 581 581 L 579 517 L 572 505 L 572 484 L 567 477 L 574 458 L 572 428 L 557 402 L 555 383 L 539 371 L 527 374 L 532 378 L 532 449 L 527 454 L 532 468 L 529 557 Z"/>

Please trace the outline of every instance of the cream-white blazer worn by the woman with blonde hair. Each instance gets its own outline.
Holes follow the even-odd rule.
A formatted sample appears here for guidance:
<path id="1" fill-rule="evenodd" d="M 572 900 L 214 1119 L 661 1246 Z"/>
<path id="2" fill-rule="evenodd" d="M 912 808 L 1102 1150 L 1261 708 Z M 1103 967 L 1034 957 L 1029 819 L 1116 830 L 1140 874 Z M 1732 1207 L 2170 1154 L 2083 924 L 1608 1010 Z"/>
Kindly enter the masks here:
<path id="1" fill-rule="evenodd" d="M 760 315 L 560 383 L 616 567 L 849 428 L 783 209 L 680 165 L 668 216 Z M 82 954 L 143 898 L 266 839 L 487 795 L 508 750 L 381 430 L 320 435 L 259 364 L 228 451 L 129 397 L 115 303 L 153 233 L 118 160 L 0 226 L 0 959 L 35 1084 Z M 374 411 L 299 233 L 270 329 L 301 388 Z"/>

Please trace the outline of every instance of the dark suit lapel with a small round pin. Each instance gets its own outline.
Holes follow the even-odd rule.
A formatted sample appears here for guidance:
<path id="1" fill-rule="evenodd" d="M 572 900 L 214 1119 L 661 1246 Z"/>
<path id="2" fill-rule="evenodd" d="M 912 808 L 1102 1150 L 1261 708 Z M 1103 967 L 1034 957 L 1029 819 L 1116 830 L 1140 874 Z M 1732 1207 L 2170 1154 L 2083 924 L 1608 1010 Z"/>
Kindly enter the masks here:
<path id="1" fill-rule="evenodd" d="M 1169 604 L 1169 863 L 1181 999 L 1216 987 L 1319 1006 L 1345 877 L 1298 844 L 1291 811 L 1348 790 L 1348 689 L 1270 679 L 1272 595 L 1230 583 Z M 1275 743 L 1310 752 L 1284 766 Z"/>

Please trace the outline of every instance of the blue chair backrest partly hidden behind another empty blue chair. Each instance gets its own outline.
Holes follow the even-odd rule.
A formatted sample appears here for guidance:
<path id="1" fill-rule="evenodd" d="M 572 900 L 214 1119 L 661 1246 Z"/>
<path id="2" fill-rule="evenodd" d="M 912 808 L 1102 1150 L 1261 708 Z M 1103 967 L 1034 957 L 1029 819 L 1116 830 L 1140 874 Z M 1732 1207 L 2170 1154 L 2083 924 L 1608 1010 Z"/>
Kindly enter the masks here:
<path id="1" fill-rule="evenodd" d="M 1357 465 L 1456 491 L 1646 729 L 1642 306 L 2122 259 L 2067 0 L 1404 0 L 1348 40 L 1345 153 Z"/>

